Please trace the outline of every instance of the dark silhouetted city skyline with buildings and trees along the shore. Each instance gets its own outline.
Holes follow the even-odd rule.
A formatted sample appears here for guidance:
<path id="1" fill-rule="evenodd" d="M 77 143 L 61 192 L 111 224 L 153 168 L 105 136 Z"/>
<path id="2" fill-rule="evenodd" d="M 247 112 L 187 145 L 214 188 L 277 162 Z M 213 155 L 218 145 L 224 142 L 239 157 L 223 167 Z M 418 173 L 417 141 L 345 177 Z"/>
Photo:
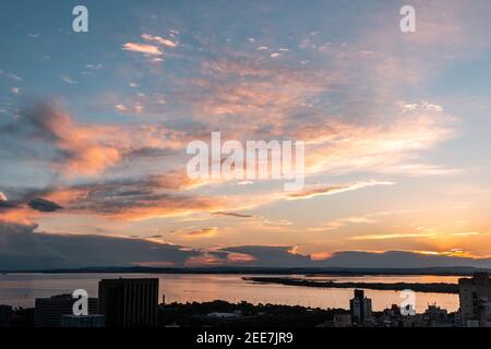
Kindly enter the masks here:
<path id="1" fill-rule="evenodd" d="M 241 326 L 242 321 L 259 321 L 263 317 L 266 324 L 282 322 L 280 318 L 272 316 L 275 312 L 288 309 L 284 321 L 295 323 L 296 316 L 310 313 L 308 323 L 315 327 L 489 327 L 491 324 L 491 306 L 489 298 L 491 284 L 488 273 L 475 273 L 471 278 L 458 278 L 458 284 L 406 284 L 406 287 L 429 287 L 426 291 L 436 291 L 436 288 L 446 285 L 455 287 L 452 292 L 458 291 L 459 309 L 450 312 L 439 306 L 436 302 L 428 302 L 424 312 L 421 309 L 421 292 L 405 289 L 400 292 L 400 304 L 387 303 L 386 308 L 379 311 L 372 309 L 372 299 L 366 296 L 366 290 L 371 286 L 360 282 L 352 284 L 348 289 L 354 294 L 348 304 L 340 308 L 324 306 L 297 306 L 286 305 L 277 302 L 250 303 L 241 300 L 231 303 L 226 300 L 215 299 L 208 302 L 166 303 L 165 293 L 161 303 L 158 301 L 160 277 L 152 278 L 110 278 L 98 280 L 97 298 L 88 298 L 86 290 L 77 289 L 72 294 L 62 293 L 49 298 L 36 298 L 35 308 L 13 308 L 0 304 L 0 327 L 35 326 L 35 327 L 180 327 L 203 326 L 220 327 Z M 259 282 L 274 282 L 275 279 L 262 278 Z M 268 280 L 266 280 L 268 279 Z M 97 280 L 97 278 L 95 278 Z M 295 280 L 291 278 L 290 280 Z M 308 279 L 303 279 L 304 281 Z M 310 279 L 304 287 L 314 287 L 319 280 Z M 322 281 L 321 281 L 322 284 Z M 384 282 L 383 282 L 384 284 Z M 291 287 L 287 286 L 285 287 Z M 340 286 L 342 284 L 338 284 Z M 391 288 L 397 284 L 385 284 Z M 358 286 L 364 288 L 357 288 Z M 316 286 L 319 287 L 319 286 Z M 331 286 L 333 287 L 333 286 Z M 331 288 L 331 287 L 327 287 Z M 432 289 L 431 289 L 432 288 Z M 83 291 L 83 292 L 80 292 Z M 372 293 L 376 297 L 376 293 Z M 324 293 L 325 296 L 325 293 Z M 388 305 L 391 304 L 391 305 Z M 380 308 L 380 304 L 376 305 Z M 260 311 L 264 308 L 265 312 Z M 187 309 L 182 312 L 182 310 Z M 233 312 L 230 310 L 235 309 Z M 294 312 L 291 310 L 295 309 Z M 224 310 L 229 310 L 225 312 Z M 321 315 L 321 316 L 320 316 Z M 307 320 L 307 318 L 306 318 Z M 261 320 L 260 320 L 261 321 Z M 286 323 L 282 324 L 287 326 Z M 227 327 L 228 327 L 227 326 Z M 291 323 L 290 325 L 291 326 Z"/>

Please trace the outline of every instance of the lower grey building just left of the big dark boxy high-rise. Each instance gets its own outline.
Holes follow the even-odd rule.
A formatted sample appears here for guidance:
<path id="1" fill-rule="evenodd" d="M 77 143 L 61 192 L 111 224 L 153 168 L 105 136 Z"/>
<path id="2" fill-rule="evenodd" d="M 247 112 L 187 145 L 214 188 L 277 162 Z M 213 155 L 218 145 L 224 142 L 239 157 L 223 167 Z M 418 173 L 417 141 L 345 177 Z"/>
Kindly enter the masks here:
<path id="1" fill-rule="evenodd" d="M 50 298 L 36 298 L 34 324 L 36 327 L 60 327 L 61 315 L 73 314 L 72 294 L 59 294 Z M 88 298 L 88 314 L 97 311 L 97 298 Z"/>

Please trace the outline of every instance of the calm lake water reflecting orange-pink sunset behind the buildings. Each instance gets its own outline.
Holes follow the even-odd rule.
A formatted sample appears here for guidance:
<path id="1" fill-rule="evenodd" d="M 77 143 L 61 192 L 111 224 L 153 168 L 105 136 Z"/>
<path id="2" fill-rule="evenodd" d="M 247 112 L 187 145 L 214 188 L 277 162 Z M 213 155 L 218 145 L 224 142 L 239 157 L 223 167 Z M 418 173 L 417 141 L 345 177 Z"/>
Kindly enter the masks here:
<path id="1" fill-rule="evenodd" d="M 89 297 L 97 297 L 98 281 L 103 278 L 154 277 L 160 280 L 161 300 L 166 302 L 203 302 L 225 300 L 248 301 L 287 305 L 349 308 L 354 289 L 310 288 L 283 285 L 263 285 L 242 280 L 252 275 L 224 274 L 7 274 L 0 275 L 0 304 L 34 306 L 34 299 L 60 293 L 72 293 L 74 289 L 87 290 Z M 261 276 L 261 275 L 254 275 Z M 272 275 L 268 275 L 272 276 Z M 279 275 L 278 275 L 279 276 Z M 284 276 L 284 275 L 283 275 Z M 291 277 L 302 277 L 291 275 Z M 311 277 L 309 277 L 311 278 Z M 448 282 L 456 284 L 457 276 L 318 276 L 319 280 L 359 282 Z M 366 290 L 372 299 L 375 311 L 399 304 L 398 291 Z M 448 311 L 458 309 L 458 294 L 417 292 L 417 312 L 423 312 L 428 304 L 436 303 Z"/>

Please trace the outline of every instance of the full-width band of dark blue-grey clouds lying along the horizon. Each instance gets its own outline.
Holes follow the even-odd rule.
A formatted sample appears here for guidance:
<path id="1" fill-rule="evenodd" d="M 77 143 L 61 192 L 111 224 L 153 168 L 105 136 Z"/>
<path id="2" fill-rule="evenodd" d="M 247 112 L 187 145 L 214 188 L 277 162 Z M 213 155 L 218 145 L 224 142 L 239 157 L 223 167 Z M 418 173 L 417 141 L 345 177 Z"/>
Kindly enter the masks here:
<path id="1" fill-rule="evenodd" d="M 0 269 L 76 268 L 91 266 L 183 266 L 205 252 L 181 245 L 107 236 L 49 234 L 35 232 L 36 225 L 0 221 Z M 207 252 L 224 265 L 259 267 L 491 267 L 491 258 L 424 255 L 391 251 L 337 252 L 325 260 L 295 253 L 291 246 L 230 246 Z M 247 258 L 233 258 L 233 255 Z M 242 261 L 242 262 L 241 262 Z"/>

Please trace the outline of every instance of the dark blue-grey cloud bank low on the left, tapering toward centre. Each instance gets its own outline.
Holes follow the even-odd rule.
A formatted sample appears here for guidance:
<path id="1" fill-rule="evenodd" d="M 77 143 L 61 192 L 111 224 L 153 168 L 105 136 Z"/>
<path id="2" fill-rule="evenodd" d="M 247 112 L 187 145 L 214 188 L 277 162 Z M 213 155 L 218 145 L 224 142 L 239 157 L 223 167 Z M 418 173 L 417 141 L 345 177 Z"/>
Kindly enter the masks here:
<path id="1" fill-rule="evenodd" d="M 0 269 L 74 268 L 165 263 L 183 265 L 201 252 L 173 244 L 103 236 L 38 233 L 35 225 L 0 224 Z"/>

